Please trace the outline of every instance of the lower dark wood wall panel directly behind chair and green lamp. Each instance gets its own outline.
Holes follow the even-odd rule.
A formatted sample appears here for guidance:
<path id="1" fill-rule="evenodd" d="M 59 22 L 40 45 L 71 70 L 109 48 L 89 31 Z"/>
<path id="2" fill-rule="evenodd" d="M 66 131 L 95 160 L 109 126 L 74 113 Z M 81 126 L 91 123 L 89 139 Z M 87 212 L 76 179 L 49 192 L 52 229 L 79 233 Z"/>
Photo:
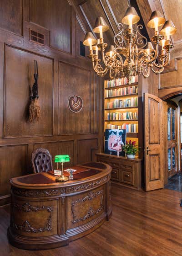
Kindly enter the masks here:
<path id="1" fill-rule="evenodd" d="M 65 163 L 64 166 L 73 165 L 74 161 L 74 141 L 52 141 L 45 143 L 35 143 L 34 150 L 38 148 L 48 149 L 50 154 L 52 155 L 53 168 L 56 169 L 56 164 L 54 162 L 55 155 L 70 155 L 71 161 L 69 163 Z M 59 166 L 61 168 L 61 165 Z"/>

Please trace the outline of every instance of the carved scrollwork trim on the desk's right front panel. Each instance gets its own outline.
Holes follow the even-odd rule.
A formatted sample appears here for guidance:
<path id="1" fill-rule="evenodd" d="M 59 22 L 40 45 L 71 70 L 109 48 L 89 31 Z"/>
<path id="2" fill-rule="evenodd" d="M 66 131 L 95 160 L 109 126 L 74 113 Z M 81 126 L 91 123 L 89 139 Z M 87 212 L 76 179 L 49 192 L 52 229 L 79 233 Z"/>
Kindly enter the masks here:
<path id="1" fill-rule="evenodd" d="M 83 202 L 86 202 L 87 200 L 91 201 L 93 198 L 96 198 L 96 197 L 98 197 L 100 195 L 101 195 L 100 207 L 98 209 L 96 209 L 96 210 L 93 210 L 93 208 L 90 207 L 88 209 L 88 213 L 85 216 L 80 217 L 79 219 L 77 219 L 77 217 L 76 217 L 76 210 L 75 210 L 76 203 L 83 203 Z M 89 192 L 89 194 L 86 197 L 78 198 L 75 201 L 73 201 L 71 203 L 71 213 L 73 215 L 72 223 L 75 224 L 75 223 L 78 223 L 80 221 L 84 221 L 86 219 L 90 219 L 92 216 L 94 216 L 97 213 L 101 212 L 101 210 L 103 209 L 102 201 L 103 201 L 103 190 L 100 190 L 100 191 L 97 191 L 97 192 Z"/>

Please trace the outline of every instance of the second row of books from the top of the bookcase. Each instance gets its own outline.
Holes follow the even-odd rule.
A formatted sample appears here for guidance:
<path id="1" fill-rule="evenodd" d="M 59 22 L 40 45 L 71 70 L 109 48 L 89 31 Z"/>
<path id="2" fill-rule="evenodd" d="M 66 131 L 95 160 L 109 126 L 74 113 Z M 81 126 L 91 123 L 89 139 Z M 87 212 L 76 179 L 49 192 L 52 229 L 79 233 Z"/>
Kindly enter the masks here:
<path id="1" fill-rule="evenodd" d="M 106 97 L 123 96 L 138 93 L 138 86 L 128 86 L 119 89 L 106 90 Z"/>

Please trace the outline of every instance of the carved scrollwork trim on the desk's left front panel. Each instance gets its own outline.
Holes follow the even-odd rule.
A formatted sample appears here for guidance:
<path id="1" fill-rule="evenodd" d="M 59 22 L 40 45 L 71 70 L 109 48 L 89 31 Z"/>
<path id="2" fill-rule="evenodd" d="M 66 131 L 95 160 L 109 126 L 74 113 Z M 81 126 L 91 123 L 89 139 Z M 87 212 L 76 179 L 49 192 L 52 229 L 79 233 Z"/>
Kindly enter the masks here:
<path id="1" fill-rule="evenodd" d="M 51 229 L 52 229 L 51 228 L 51 217 L 52 217 L 52 211 L 53 211 L 52 207 L 42 206 L 42 207 L 38 208 L 38 207 L 30 205 L 29 203 L 24 203 L 23 205 L 14 203 L 12 207 L 16 208 L 18 211 L 23 211 L 26 213 L 37 212 L 37 211 L 42 211 L 42 210 L 47 210 L 50 213 L 45 227 L 39 227 L 39 228 L 32 227 L 30 222 L 26 219 L 22 225 L 12 223 L 12 225 L 13 225 L 13 227 L 15 227 L 15 229 L 25 231 L 25 232 L 32 232 L 32 233 L 45 232 L 46 230 L 51 231 Z"/>

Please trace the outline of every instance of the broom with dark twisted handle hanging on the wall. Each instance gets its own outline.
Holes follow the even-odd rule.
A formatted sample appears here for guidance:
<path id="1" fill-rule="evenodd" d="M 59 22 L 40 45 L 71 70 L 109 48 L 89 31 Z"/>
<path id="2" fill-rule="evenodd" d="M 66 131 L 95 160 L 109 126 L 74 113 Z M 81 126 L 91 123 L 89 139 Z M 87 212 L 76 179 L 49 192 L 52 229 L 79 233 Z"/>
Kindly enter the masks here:
<path id="1" fill-rule="evenodd" d="M 38 64 L 37 61 L 34 60 L 34 84 L 32 88 L 30 88 L 30 106 L 29 106 L 29 121 L 33 122 L 38 121 L 40 119 L 40 104 L 39 104 L 39 95 L 38 95 Z"/>

